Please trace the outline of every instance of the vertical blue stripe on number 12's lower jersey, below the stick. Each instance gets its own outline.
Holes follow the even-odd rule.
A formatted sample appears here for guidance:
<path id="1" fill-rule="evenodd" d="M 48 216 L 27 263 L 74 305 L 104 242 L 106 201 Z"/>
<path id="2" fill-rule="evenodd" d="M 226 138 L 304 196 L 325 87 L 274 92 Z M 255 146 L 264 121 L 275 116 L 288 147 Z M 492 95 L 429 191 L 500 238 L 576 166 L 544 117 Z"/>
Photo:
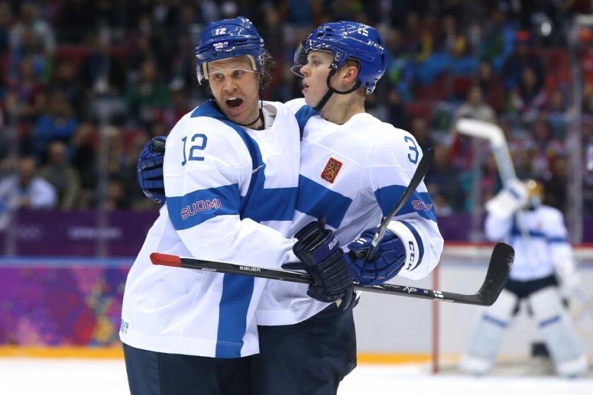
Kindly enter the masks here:
<path id="1" fill-rule="evenodd" d="M 253 277 L 224 274 L 218 309 L 217 358 L 240 358 L 246 316 L 253 293 Z"/>

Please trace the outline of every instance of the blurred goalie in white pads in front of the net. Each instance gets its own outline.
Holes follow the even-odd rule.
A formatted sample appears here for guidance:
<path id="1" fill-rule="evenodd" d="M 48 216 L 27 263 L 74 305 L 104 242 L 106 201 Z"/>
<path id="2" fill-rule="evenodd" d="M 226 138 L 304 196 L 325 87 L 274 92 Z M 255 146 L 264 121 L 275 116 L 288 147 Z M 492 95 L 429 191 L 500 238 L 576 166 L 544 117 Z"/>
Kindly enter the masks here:
<path id="1" fill-rule="evenodd" d="M 558 375 L 577 377 L 587 372 L 587 356 L 562 303 L 579 282 L 573 249 L 563 214 L 541 204 L 543 196 L 544 190 L 536 181 L 514 180 L 486 202 L 486 238 L 512 245 L 515 262 L 501 296 L 481 310 L 460 363 L 465 372 L 484 375 L 491 370 L 522 300 L 544 338 Z"/>

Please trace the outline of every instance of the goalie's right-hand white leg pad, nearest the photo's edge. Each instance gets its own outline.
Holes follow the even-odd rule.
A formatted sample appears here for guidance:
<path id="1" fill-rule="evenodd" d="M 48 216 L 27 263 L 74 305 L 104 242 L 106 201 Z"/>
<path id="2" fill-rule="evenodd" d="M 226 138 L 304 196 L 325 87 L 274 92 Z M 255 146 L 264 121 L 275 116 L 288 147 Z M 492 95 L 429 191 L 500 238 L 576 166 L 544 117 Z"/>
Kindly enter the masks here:
<path id="1" fill-rule="evenodd" d="M 580 376 L 588 363 L 558 288 L 549 286 L 529 296 L 529 305 L 550 351 L 556 372 L 565 377 Z"/>

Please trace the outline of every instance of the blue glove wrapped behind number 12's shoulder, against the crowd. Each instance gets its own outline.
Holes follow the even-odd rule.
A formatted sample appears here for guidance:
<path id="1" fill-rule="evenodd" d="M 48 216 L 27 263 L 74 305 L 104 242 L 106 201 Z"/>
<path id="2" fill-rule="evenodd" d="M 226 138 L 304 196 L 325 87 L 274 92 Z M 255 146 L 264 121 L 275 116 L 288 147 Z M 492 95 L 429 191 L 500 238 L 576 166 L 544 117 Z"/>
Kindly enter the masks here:
<path id="1" fill-rule="evenodd" d="M 164 159 L 164 142 L 166 136 L 157 136 L 146 143 L 138 157 L 138 183 L 143 193 L 157 203 L 164 203 L 164 182 L 162 179 L 162 162 Z"/>

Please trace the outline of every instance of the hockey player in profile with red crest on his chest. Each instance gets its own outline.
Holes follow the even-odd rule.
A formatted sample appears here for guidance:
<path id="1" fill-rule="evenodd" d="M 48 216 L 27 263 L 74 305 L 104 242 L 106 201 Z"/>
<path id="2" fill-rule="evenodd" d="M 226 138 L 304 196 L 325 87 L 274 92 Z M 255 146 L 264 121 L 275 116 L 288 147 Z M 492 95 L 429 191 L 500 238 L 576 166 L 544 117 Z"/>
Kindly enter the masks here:
<path id="1" fill-rule="evenodd" d="M 364 111 L 388 61 L 381 36 L 361 23 L 325 23 L 296 50 L 295 61 L 304 99 L 287 103 L 302 133 L 293 229 L 323 216 L 342 245 L 358 238 L 345 257 L 360 284 L 396 274 L 425 277 L 438 262 L 443 238 L 424 183 L 391 222 L 376 260 L 360 258 L 422 155 L 412 135 Z M 352 310 L 310 296 L 301 284 L 268 281 L 256 313 L 254 393 L 335 394 L 356 365 Z"/>

